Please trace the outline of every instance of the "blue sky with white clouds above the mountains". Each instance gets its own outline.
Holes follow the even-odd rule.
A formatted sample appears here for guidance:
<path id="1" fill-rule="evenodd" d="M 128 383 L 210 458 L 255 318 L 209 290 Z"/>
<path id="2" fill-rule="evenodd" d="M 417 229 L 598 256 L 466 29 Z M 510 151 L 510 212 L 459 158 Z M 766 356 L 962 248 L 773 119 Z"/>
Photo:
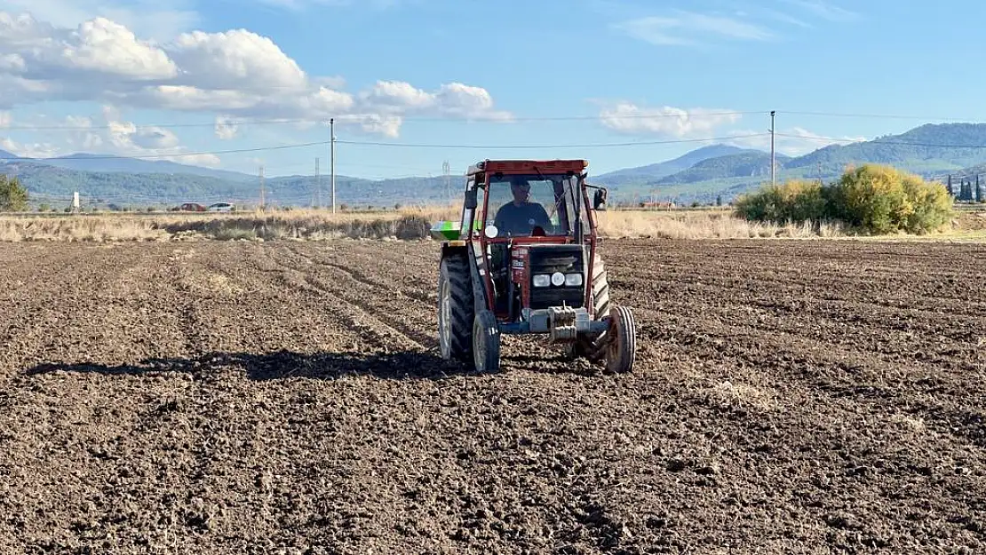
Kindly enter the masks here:
<path id="1" fill-rule="evenodd" d="M 0 149 L 265 175 L 599 174 L 986 121 L 986 3 L 0 0 Z"/>

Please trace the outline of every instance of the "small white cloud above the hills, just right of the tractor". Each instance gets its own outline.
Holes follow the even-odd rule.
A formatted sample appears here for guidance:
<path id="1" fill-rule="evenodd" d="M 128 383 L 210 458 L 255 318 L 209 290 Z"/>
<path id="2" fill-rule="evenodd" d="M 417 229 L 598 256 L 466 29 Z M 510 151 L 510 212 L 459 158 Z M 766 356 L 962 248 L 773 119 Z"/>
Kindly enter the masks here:
<path id="1" fill-rule="evenodd" d="M 706 135 L 718 127 L 739 121 L 740 117 L 735 111 L 724 109 L 648 108 L 626 102 L 606 106 L 599 111 L 602 125 L 614 131 L 676 138 Z"/>

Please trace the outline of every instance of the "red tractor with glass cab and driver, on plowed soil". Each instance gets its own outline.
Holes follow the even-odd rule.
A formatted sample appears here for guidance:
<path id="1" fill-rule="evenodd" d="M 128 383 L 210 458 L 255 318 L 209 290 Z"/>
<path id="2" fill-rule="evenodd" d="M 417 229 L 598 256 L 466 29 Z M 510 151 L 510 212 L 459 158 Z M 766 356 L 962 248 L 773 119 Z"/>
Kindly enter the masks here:
<path id="1" fill-rule="evenodd" d="M 594 214 L 605 209 L 606 189 L 587 183 L 588 167 L 585 160 L 469 167 L 459 221 L 431 229 L 442 245 L 445 360 L 499 372 L 502 334 L 540 334 L 569 360 L 601 362 L 612 374 L 633 370 L 636 324 L 628 308 L 609 301 Z"/>

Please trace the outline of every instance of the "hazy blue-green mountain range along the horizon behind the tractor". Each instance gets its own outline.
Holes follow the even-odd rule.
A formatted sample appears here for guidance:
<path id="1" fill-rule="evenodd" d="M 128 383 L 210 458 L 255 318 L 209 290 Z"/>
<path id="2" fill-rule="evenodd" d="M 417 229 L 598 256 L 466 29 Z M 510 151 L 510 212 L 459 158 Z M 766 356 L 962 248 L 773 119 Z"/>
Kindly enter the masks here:
<path id="1" fill-rule="evenodd" d="M 830 145 L 804 156 L 776 155 L 777 178 L 837 177 L 846 167 L 889 164 L 925 177 L 986 173 L 986 124 L 926 124 L 899 135 L 872 141 Z M 35 205 L 60 206 L 73 191 L 94 205 L 163 206 L 178 202 L 227 201 L 254 204 L 257 176 L 212 170 L 167 161 L 145 161 L 104 155 L 74 154 L 49 159 L 19 159 L 0 151 L 0 172 L 16 174 L 28 187 Z M 730 145 L 710 145 L 679 158 L 591 175 L 590 181 L 610 190 L 617 201 L 675 200 L 710 202 L 732 199 L 770 178 L 770 153 Z M 328 177 L 291 175 L 264 179 L 264 196 L 275 205 L 327 204 Z M 461 178 L 451 190 L 443 177 L 373 180 L 336 175 L 337 202 L 351 206 L 428 204 L 458 198 Z"/>

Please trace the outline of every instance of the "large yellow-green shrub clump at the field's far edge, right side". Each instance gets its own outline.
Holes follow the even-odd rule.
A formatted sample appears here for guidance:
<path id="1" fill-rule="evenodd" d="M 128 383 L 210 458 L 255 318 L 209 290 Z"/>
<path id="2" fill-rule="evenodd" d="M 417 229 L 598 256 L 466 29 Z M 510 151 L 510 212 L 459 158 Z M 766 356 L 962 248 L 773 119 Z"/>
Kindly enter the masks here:
<path id="1" fill-rule="evenodd" d="M 841 221 L 869 233 L 924 234 L 951 221 L 945 185 L 888 166 L 847 170 L 829 185 L 791 180 L 740 197 L 737 212 L 760 222 Z"/>

